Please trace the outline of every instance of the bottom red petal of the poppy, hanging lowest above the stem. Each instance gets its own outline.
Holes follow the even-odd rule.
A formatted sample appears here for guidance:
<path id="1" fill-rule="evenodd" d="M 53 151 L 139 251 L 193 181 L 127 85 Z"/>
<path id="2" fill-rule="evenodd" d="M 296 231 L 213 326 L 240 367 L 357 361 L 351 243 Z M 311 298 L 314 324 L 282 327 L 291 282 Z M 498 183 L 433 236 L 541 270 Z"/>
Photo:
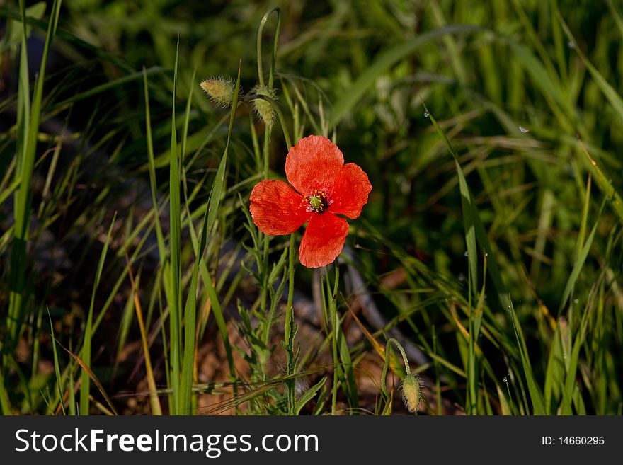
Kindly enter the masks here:
<path id="1" fill-rule="evenodd" d="M 299 259 L 307 268 L 328 265 L 340 255 L 348 235 L 345 219 L 325 212 L 312 214 L 299 247 Z"/>

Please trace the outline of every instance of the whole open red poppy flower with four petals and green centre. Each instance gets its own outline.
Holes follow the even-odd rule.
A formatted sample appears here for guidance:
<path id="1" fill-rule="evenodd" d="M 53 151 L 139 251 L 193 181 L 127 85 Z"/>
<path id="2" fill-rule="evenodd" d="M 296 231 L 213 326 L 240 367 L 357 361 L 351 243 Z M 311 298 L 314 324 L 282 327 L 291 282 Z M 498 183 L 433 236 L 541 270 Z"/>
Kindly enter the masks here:
<path id="1" fill-rule="evenodd" d="M 306 222 L 299 259 L 308 268 L 331 263 L 342 251 L 348 222 L 367 203 L 372 185 L 355 163 L 323 136 L 299 140 L 285 159 L 285 176 L 265 180 L 251 192 L 251 216 L 264 234 L 292 234 Z M 294 189 L 293 189 L 294 188 Z"/>

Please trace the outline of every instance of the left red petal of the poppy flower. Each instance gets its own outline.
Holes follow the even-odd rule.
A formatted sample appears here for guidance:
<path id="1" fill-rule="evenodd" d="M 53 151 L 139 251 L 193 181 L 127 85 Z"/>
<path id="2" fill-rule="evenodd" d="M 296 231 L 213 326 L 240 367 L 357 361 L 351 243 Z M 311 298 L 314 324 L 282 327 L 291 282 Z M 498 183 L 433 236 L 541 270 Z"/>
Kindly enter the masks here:
<path id="1" fill-rule="evenodd" d="M 251 191 L 251 217 L 264 234 L 291 234 L 311 215 L 302 197 L 280 180 L 265 180 Z"/>

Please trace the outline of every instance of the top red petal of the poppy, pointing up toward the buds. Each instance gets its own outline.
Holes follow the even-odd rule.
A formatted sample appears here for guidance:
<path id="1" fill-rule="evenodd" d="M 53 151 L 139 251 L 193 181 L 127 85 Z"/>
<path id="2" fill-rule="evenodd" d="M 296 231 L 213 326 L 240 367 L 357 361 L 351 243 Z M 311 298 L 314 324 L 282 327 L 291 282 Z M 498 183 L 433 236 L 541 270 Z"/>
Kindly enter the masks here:
<path id="1" fill-rule="evenodd" d="M 328 192 L 344 165 L 338 146 L 324 136 L 309 136 L 299 140 L 285 159 L 285 175 L 302 195 L 311 190 Z"/>

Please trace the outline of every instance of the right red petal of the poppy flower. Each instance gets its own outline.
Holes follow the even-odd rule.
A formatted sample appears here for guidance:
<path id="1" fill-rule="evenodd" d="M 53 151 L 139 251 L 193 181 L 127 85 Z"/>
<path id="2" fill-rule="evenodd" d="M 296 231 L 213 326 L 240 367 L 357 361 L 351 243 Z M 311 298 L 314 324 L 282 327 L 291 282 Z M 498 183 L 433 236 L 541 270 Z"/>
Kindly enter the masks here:
<path id="1" fill-rule="evenodd" d="M 332 202 L 329 209 L 333 213 L 355 219 L 367 203 L 370 190 L 372 190 L 372 184 L 365 171 L 355 163 L 348 163 L 341 169 L 336 183 L 333 184 L 333 192 L 328 196 L 329 201 Z"/>

